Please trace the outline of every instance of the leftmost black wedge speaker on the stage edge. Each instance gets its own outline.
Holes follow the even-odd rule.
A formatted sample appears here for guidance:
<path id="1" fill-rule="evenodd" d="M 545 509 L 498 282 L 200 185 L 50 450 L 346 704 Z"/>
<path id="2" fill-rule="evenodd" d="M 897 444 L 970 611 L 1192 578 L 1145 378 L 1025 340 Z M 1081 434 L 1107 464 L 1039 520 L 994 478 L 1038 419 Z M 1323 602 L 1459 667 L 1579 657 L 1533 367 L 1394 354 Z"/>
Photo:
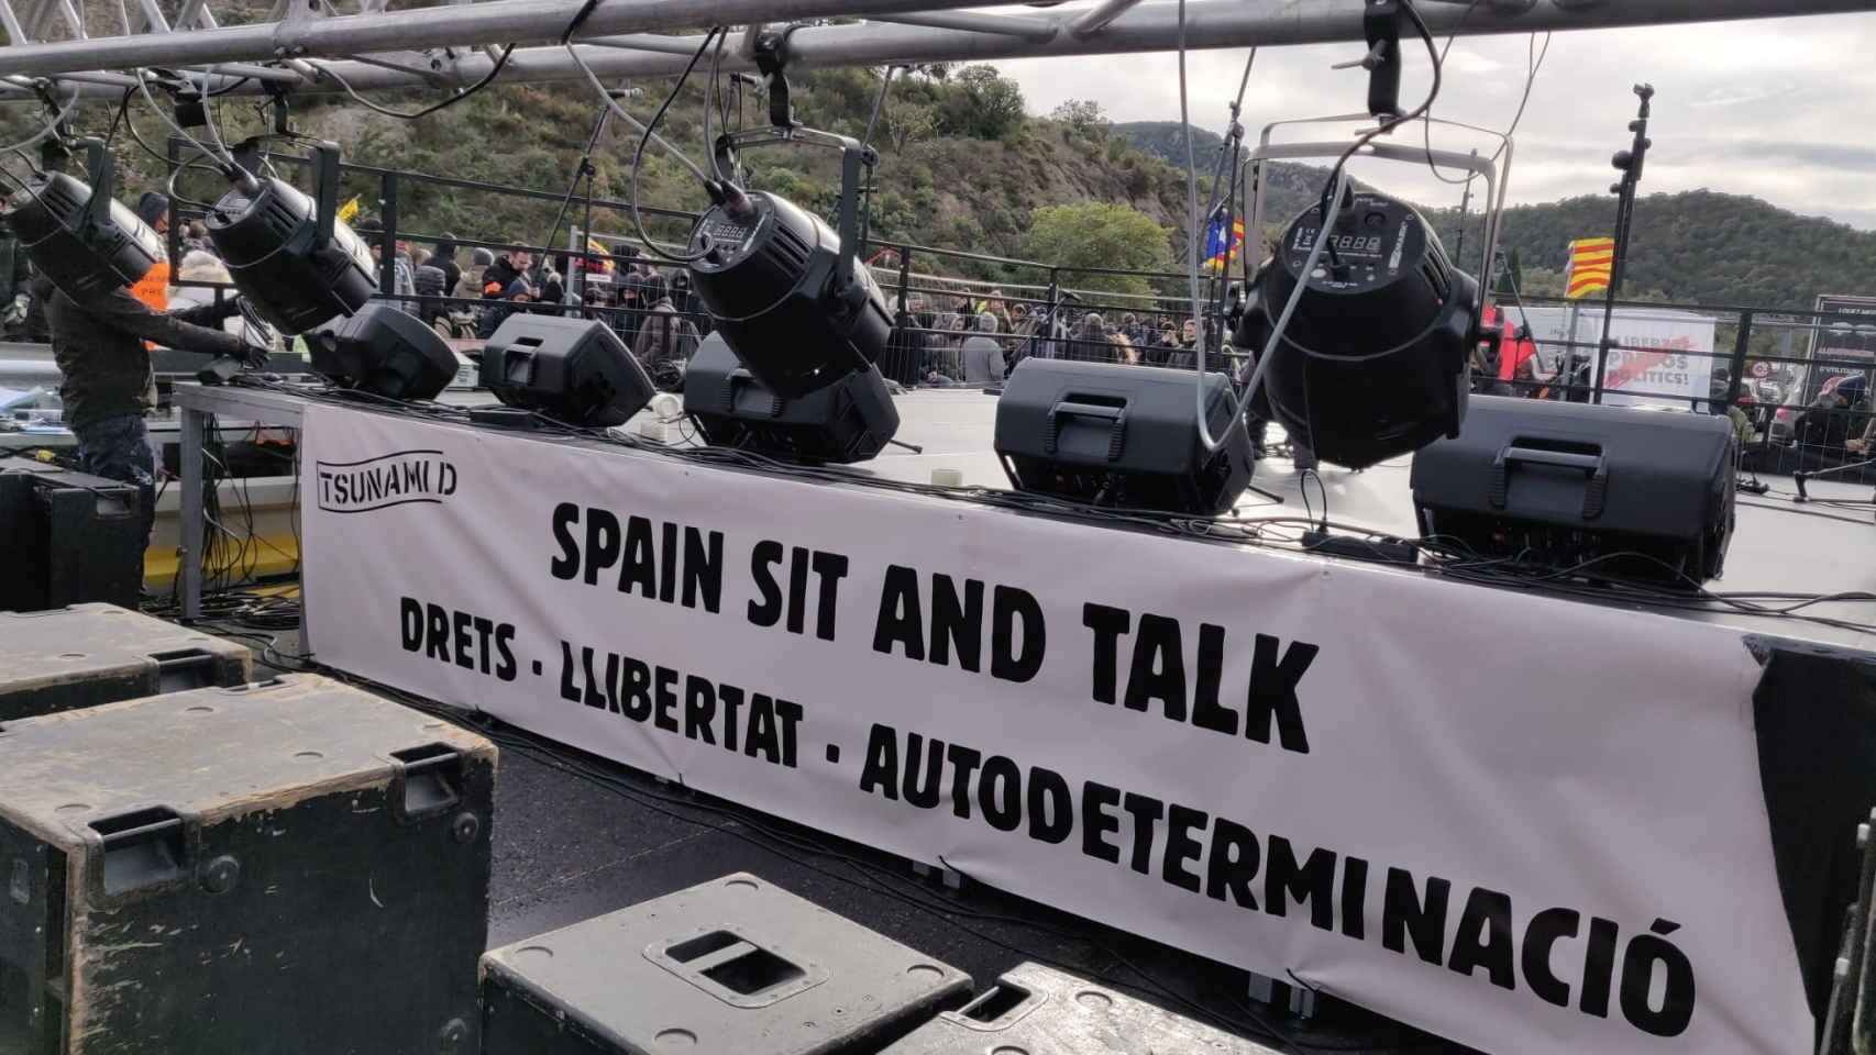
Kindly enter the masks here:
<path id="1" fill-rule="evenodd" d="M 366 304 L 308 341 L 313 373 L 340 388 L 385 399 L 435 399 L 456 379 L 456 352 L 422 319 L 392 304 Z"/>

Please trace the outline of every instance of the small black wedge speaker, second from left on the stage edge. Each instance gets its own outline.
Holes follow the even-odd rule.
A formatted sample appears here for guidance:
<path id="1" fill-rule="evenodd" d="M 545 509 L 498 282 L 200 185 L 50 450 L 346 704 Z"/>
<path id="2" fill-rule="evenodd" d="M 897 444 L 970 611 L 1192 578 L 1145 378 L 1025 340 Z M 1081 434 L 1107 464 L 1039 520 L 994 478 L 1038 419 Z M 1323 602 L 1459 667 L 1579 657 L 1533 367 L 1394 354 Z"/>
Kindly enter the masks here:
<path id="1" fill-rule="evenodd" d="M 604 322 L 516 313 L 482 349 L 482 388 L 568 425 L 623 425 L 657 394 Z"/>

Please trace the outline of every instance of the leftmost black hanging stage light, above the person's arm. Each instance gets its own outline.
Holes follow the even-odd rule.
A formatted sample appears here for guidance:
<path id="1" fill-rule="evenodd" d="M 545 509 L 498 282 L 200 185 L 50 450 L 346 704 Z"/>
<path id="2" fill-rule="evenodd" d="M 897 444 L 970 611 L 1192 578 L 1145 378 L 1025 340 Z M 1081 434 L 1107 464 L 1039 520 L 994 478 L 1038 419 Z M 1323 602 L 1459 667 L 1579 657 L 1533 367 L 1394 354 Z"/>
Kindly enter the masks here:
<path id="1" fill-rule="evenodd" d="M 156 230 L 111 197 L 116 172 L 111 152 L 96 139 L 86 148 L 88 186 L 64 172 L 38 172 L 6 210 L 32 266 L 81 300 L 135 285 L 163 259 Z"/>

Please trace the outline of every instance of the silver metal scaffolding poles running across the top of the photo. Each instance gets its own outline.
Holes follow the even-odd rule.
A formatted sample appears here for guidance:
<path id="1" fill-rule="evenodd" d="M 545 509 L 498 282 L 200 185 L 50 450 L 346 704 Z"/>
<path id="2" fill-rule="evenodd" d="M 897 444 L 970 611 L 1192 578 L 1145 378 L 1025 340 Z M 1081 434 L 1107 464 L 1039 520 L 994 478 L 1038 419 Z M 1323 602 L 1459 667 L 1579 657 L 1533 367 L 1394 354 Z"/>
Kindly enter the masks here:
<path id="1" fill-rule="evenodd" d="M 741 24 L 749 21 L 788 21 L 831 15 L 897 15 L 942 7 L 964 7 L 951 0 L 634 0 L 600 4 L 582 36 L 613 37 L 672 26 Z M 510 39 L 557 39 L 568 19 L 565 0 L 490 0 L 431 7 L 422 19 L 407 11 L 306 19 L 300 22 L 255 22 L 216 30 L 139 34 L 131 37 L 92 37 L 56 43 L 0 47 L 0 75 L 58 75 L 71 71 L 128 69 L 135 66 L 186 66 L 219 62 L 266 62 L 280 54 L 332 56 L 373 51 L 437 49 Z M 1651 26 L 1760 17 L 1829 15 L 1868 11 L 1870 0 L 1623 0 L 1585 6 L 1583 0 L 1538 0 L 1527 11 L 1480 4 L 1467 7 L 1437 4 L 1422 13 L 1435 34 L 1461 32 L 1523 34 L 1542 30 L 1587 30 L 1610 26 Z M 1088 11 L 1049 17 L 1022 17 L 1026 22 L 1052 21 L 1067 28 Z M 977 15 L 991 17 L 991 15 Z M 1463 24 L 1461 24 L 1463 17 Z M 1015 19 L 1009 19 L 1015 21 Z M 908 24 L 833 24 L 805 26 L 788 37 L 790 62 L 799 67 L 884 66 L 917 62 L 970 62 L 1026 56 L 1077 56 L 1171 51 L 1178 39 L 1174 4 L 1142 4 L 1122 13 L 1105 28 L 1075 36 L 1054 32 L 1013 36 L 964 28 Z M 702 37 L 625 37 L 587 47 L 582 56 L 600 77 L 664 77 L 677 73 L 685 56 Z M 1191 0 L 1186 7 L 1186 39 L 1195 49 L 1274 47 L 1306 43 L 1360 41 L 1362 0 Z M 657 47 L 658 51 L 647 51 Z M 326 62 L 358 90 L 465 84 L 490 69 L 482 54 L 458 56 L 437 75 L 416 77 L 360 62 Z M 726 69 L 750 69 L 741 56 L 724 52 Z M 578 81 L 583 75 L 559 47 L 516 49 L 512 81 Z M 330 90 L 330 84 L 308 86 Z M 248 82 L 238 92 L 261 92 Z"/>

